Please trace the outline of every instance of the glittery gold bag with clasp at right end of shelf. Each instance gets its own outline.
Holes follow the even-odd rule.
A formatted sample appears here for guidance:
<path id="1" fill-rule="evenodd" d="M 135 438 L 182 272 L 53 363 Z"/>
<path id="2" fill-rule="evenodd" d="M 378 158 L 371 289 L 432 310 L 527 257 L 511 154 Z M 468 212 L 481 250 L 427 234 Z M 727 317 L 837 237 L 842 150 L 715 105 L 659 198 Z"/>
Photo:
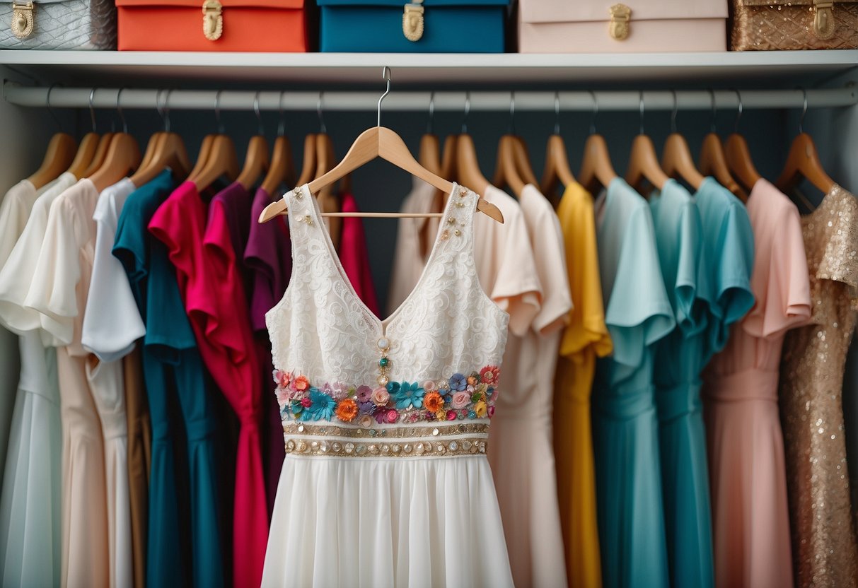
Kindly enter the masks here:
<path id="1" fill-rule="evenodd" d="M 731 0 L 730 49 L 855 49 L 855 0 Z"/>

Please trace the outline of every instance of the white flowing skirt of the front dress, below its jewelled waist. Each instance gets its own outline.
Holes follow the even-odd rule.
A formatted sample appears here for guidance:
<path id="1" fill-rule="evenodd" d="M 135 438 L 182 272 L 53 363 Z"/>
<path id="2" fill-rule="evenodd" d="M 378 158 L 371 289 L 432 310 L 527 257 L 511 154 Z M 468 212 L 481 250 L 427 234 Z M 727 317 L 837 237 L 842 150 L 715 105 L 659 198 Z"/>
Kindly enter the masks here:
<path id="1" fill-rule="evenodd" d="M 262 585 L 512 586 L 488 460 L 287 455 Z"/>

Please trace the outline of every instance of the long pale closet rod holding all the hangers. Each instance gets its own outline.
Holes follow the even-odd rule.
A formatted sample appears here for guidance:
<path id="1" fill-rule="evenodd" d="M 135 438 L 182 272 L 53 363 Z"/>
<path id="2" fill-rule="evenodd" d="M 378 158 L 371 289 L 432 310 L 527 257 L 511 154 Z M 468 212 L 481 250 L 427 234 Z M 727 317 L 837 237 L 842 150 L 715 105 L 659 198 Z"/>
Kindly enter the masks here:
<path id="1" fill-rule="evenodd" d="M 53 87 L 51 107 L 88 108 L 91 87 Z M 116 108 L 119 88 L 97 87 L 93 95 L 94 108 Z M 742 106 L 745 109 L 801 109 L 804 105 L 802 91 L 794 90 L 741 90 Z M 120 102 L 122 108 L 140 108 L 154 110 L 167 100 L 166 90 L 123 88 Z M 19 106 L 45 107 L 47 105 L 47 87 L 27 87 L 14 82 L 3 83 L 3 97 L 7 102 Z M 168 108 L 170 110 L 215 109 L 216 90 L 171 90 Z M 223 111 L 253 110 L 253 90 L 225 90 L 217 100 Z M 509 111 L 510 92 L 489 91 L 471 92 L 471 111 Z M 554 111 L 553 91 L 516 92 L 516 109 L 519 111 Z M 640 94 L 631 91 L 596 91 L 599 111 L 638 111 Z M 282 100 L 281 100 L 282 98 Z M 394 91 L 384 100 L 384 111 L 425 111 L 430 100 L 429 92 Z M 683 111 L 709 111 L 712 97 L 708 90 L 678 90 L 676 104 Z M 716 90 L 716 107 L 719 110 L 734 110 L 739 100 L 734 90 Z M 561 111 L 592 111 L 593 97 L 588 91 L 565 91 L 559 93 Z M 436 92 L 435 111 L 463 111 L 464 92 Z M 835 108 L 858 104 L 858 88 L 840 87 L 807 90 L 808 108 Z M 263 91 L 259 93 L 259 108 L 263 111 L 315 111 L 319 105 L 318 92 Z M 674 109 L 674 94 L 668 90 L 644 91 L 646 111 L 670 111 Z M 378 92 L 340 92 L 323 93 L 325 111 L 376 111 Z"/>

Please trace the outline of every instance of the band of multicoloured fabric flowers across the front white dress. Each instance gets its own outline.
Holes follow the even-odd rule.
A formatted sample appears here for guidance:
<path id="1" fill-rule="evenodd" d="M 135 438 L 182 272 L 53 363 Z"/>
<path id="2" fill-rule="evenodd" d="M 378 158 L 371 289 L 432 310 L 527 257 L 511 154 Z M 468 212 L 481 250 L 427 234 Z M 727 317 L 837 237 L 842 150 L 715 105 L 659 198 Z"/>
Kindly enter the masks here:
<path id="1" fill-rule="evenodd" d="M 311 382 L 305 375 L 275 370 L 281 420 L 340 421 L 372 428 L 375 423 L 417 423 L 486 418 L 498 397 L 498 367 L 469 375 L 420 382 L 390 381 L 386 386 Z"/>

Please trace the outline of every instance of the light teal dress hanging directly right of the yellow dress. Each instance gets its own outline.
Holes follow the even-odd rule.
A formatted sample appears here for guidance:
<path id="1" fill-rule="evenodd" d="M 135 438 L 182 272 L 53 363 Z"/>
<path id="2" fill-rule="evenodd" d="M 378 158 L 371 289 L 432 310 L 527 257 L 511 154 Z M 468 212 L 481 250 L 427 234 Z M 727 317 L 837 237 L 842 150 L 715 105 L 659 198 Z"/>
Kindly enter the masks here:
<path id="1" fill-rule="evenodd" d="M 647 202 L 615 178 L 596 202 L 613 355 L 596 364 L 593 450 L 602 583 L 668 586 L 654 345 L 674 330 Z"/>

